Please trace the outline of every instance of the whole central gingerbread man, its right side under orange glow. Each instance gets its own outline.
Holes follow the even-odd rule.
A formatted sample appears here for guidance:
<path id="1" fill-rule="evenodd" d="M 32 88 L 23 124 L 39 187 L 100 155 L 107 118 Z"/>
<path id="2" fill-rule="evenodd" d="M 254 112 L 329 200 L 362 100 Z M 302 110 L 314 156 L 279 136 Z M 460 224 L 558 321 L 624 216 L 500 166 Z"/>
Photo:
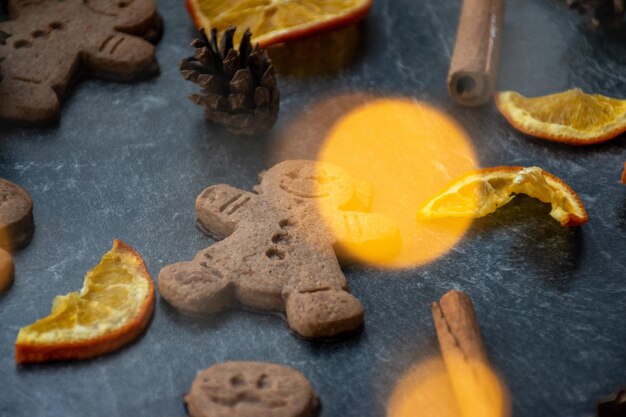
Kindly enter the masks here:
<path id="1" fill-rule="evenodd" d="M 368 184 L 331 164 L 295 160 L 262 173 L 256 192 L 220 184 L 198 196 L 199 224 L 224 240 L 163 268 L 163 298 L 192 315 L 236 301 L 286 311 L 289 326 L 306 338 L 359 329 L 363 306 L 348 292 L 337 257 L 370 246 L 391 256 L 400 244 L 394 222 L 366 212 Z M 320 203 L 331 208 L 324 218 Z"/>

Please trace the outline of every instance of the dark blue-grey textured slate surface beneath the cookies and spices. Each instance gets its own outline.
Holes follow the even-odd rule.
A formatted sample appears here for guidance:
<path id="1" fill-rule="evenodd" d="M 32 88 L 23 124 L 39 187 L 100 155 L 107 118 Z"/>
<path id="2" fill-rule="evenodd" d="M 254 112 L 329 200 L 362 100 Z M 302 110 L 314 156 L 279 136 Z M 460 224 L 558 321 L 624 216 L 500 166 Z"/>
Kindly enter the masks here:
<path id="1" fill-rule="evenodd" d="M 548 144 L 512 130 L 492 105 L 453 105 L 444 76 L 459 7 L 376 0 L 355 62 L 333 74 L 281 76 L 277 126 L 239 138 L 207 125 L 187 100 L 195 87 L 177 64 L 191 53 L 191 23 L 181 1 L 159 1 L 166 24 L 159 77 L 82 82 L 58 126 L 0 125 L 0 176 L 30 191 L 36 219 L 32 243 L 15 256 L 15 284 L 0 297 L 0 415 L 181 416 L 198 370 L 251 359 L 302 370 L 323 400 L 324 417 L 384 416 L 394 382 L 436 352 L 429 303 L 450 288 L 473 298 L 515 416 L 592 415 L 596 399 L 626 384 L 624 138 L 580 149 Z M 533 95 L 578 86 L 626 96 L 623 32 L 593 34 L 556 1 L 512 0 L 507 7 L 501 89 Z M 158 299 L 146 334 L 115 353 L 80 363 L 14 364 L 19 327 L 46 315 L 56 294 L 78 290 L 114 238 L 137 248 L 153 277 L 210 244 L 194 225 L 197 193 L 219 182 L 249 188 L 278 160 L 314 157 L 316 132 L 328 120 L 293 124 L 318 100 L 340 93 L 435 104 L 467 129 L 484 166 L 539 165 L 564 178 L 587 206 L 589 223 L 560 227 L 547 206 L 520 198 L 476 221 L 452 252 L 429 265 L 348 268 L 367 318 L 364 333 L 343 343 L 299 340 L 271 315 L 191 319 Z"/>

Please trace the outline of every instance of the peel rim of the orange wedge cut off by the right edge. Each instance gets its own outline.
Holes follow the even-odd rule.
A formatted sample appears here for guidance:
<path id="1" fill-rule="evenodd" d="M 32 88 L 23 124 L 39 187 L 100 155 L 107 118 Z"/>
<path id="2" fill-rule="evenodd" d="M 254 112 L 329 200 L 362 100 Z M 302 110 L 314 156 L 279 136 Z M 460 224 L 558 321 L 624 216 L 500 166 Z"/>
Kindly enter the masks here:
<path id="1" fill-rule="evenodd" d="M 545 103 L 542 103 L 542 100 L 545 101 Z M 578 102 L 576 102 L 576 100 L 578 100 Z M 522 96 L 515 91 L 501 91 L 494 95 L 494 101 L 500 114 L 502 114 L 511 126 L 522 133 L 540 139 L 584 146 L 606 142 L 626 132 L 626 100 L 614 99 L 599 94 L 586 94 L 577 88 L 531 98 Z M 561 104 L 565 106 L 571 104 L 571 107 L 565 108 L 565 110 L 559 110 L 555 106 L 553 110 L 550 110 L 550 106 L 547 103 L 548 101 L 553 103 L 561 102 Z M 569 123 L 555 123 L 550 120 L 542 120 L 538 118 L 536 114 L 533 115 L 532 112 L 532 107 L 539 103 L 539 106 L 543 106 L 542 110 L 544 113 L 547 113 L 547 117 L 544 117 L 544 119 L 558 117 L 559 111 L 577 113 L 579 109 L 585 109 L 580 104 L 581 101 L 583 101 L 583 104 L 587 105 L 587 110 L 593 110 L 585 111 L 584 113 L 586 115 L 590 115 L 594 111 L 600 113 L 605 112 L 607 107 L 612 106 L 623 107 L 623 111 L 616 112 L 617 114 L 611 121 L 598 124 L 591 129 L 578 129 L 574 127 L 574 120 L 570 120 Z M 524 105 L 527 107 L 522 107 L 519 103 L 525 103 Z M 574 107 L 577 108 L 575 109 Z M 552 115 L 550 115 L 550 113 L 552 113 Z"/>

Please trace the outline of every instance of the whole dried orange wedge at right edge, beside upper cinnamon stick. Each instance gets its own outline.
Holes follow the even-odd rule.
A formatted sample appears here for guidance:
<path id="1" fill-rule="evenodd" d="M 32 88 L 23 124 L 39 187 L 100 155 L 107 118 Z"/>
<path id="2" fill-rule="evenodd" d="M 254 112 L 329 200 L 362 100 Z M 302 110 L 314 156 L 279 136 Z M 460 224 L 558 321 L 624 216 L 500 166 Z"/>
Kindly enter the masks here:
<path id="1" fill-rule="evenodd" d="M 514 128 L 542 139 L 591 145 L 626 131 L 626 100 L 585 94 L 578 88 L 534 98 L 503 91 L 495 100 Z"/>

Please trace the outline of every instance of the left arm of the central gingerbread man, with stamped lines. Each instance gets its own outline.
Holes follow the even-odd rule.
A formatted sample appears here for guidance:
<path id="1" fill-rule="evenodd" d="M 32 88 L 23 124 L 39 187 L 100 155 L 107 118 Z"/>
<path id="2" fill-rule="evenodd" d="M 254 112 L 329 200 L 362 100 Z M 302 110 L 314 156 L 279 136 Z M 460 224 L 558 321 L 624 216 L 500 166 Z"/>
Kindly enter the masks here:
<path id="1" fill-rule="evenodd" d="M 256 206 L 258 195 L 218 184 L 204 189 L 196 199 L 196 216 L 203 230 L 219 239 L 230 236 Z"/>

